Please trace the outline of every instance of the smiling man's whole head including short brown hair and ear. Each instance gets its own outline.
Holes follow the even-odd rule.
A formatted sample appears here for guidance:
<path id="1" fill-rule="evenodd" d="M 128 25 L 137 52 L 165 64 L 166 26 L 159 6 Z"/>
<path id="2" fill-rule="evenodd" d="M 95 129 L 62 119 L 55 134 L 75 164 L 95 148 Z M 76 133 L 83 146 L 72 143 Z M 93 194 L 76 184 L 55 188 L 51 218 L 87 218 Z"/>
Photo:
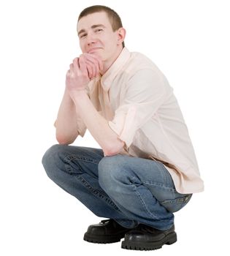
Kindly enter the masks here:
<path id="1" fill-rule="evenodd" d="M 77 34 L 83 53 L 95 53 L 104 61 L 117 58 L 125 46 L 126 31 L 119 15 L 109 7 L 85 8 L 77 21 Z"/>

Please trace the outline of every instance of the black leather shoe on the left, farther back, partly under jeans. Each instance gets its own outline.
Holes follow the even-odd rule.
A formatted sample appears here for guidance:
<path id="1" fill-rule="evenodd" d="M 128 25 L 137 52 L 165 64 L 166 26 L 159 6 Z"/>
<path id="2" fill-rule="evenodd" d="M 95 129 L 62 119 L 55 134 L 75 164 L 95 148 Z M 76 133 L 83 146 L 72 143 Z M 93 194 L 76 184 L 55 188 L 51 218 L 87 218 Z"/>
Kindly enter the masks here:
<path id="1" fill-rule="evenodd" d="M 90 225 L 84 240 L 91 243 L 109 244 L 120 241 L 130 229 L 122 227 L 113 219 L 102 220 L 99 224 Z"/>

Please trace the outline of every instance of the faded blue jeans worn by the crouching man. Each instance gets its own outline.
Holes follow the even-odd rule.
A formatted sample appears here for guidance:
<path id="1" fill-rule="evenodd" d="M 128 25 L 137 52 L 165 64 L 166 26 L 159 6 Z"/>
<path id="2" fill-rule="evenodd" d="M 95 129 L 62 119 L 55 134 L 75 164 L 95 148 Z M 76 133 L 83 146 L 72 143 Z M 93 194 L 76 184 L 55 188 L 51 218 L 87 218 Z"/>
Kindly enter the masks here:
<path id="1" fill-rule="evenodd" d="M 104 157 L 100 148 L 54 145 L 42 164 L 55 184 L 96 216 L 115 219 L 127 228 L 142 223 L 167 230 L 174 224 L 172 212 L 191 199 L 191 194 L 176 191 L 161 162 L 150 159 Z"/>

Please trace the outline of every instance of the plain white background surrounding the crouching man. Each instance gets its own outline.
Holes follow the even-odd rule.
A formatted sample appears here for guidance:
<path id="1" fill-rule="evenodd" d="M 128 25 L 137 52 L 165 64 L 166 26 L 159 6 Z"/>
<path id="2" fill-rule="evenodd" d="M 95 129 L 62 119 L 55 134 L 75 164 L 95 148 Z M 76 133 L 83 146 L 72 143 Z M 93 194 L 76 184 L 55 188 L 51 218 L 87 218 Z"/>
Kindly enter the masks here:
<path id="1" fill-rule="evenodd" d="M 80 54 L 77 16 L 93 4 L 115 9 L 127 48 L 145 53 L 168 78 L 204 179 L 205 192 L 175 214 L 177 243 L 156 252 L 83 241 L 100 219 L 50 181 L 41 164 L 56 143 L 66 71 Z M 228 254 L 229 13 L 221 0 L 1 1 L 1 255 Z M 99 147 L 88 132 L 74 145 Z"/>

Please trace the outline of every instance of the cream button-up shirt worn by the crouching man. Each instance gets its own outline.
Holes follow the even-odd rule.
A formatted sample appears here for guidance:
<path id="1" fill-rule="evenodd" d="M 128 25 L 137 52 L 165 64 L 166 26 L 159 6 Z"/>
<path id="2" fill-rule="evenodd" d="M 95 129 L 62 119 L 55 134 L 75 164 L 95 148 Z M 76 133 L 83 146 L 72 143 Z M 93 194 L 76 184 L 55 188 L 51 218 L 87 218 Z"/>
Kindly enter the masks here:
<path id="1" fill-rule="evenodd" d="M 119 154 L 162 162 L 177 192 L 202 192 L 204 184 L 183 114 L 162 72 L 141 53 L 127 48 L 110 69 L 88 84 L 88 96 L 123 140 Z M 78 118 L 78 132 L 85 124 Z"/>

